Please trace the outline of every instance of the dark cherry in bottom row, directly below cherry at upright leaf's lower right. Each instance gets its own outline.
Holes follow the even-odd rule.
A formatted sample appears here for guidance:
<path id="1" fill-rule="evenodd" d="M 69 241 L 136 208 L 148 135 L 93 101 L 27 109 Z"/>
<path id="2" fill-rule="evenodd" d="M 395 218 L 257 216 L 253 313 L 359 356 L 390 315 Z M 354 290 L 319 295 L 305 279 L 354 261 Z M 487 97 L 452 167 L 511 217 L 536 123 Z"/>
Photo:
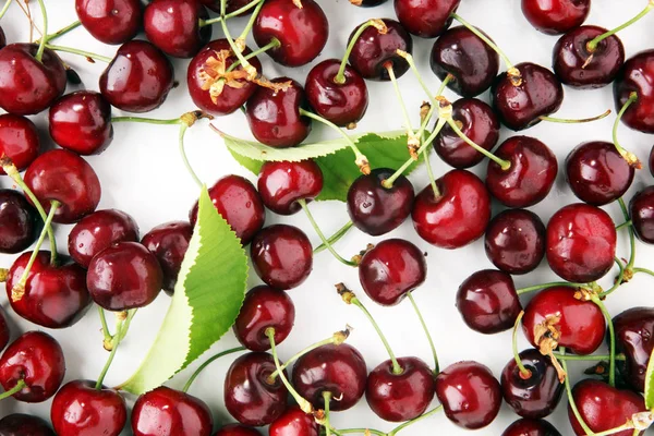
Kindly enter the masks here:
<path id="1" fill-rule="evenodd" d="M 241 424 L 268 425 L 287 409 L 288 391 L 279 377 L 272 383 L 275 361 L 268 353 L 238 358 L 225 376 L 225 405 Z"/>

